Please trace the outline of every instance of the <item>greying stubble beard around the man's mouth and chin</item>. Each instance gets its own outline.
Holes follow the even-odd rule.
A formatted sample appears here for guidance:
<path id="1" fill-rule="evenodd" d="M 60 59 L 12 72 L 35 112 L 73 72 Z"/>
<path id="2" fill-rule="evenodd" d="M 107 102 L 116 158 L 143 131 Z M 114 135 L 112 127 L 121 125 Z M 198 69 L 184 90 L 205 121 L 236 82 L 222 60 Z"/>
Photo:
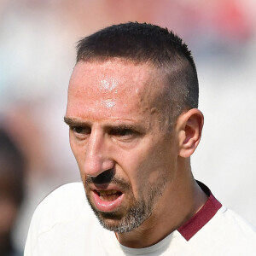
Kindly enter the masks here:
<path id="1" fill-rule="evenodd" d="M 87 201 L 90 204 L 92 211 L 95 213 L 102 227 L 114 231 L 116 233 L 127 233 L 136 230 L 144 223 L 154 210 L 154 204 L 162 195 L 162 191 L 166 187 L 166 177 L 161 177 L 156 183 L 148 183 L 148 201 L 143 198 L 136 200 L 132 193 L 131 184 L 123 179 L 113 177 L 111 183 L 117 184 L 123 188 L 126 196 L 129 195 L 130 206 L 123 213 L 116 212 L 100 212 L 96 209 L 90 198 L 90 189 L 85 181 L 84 189 Z"/>

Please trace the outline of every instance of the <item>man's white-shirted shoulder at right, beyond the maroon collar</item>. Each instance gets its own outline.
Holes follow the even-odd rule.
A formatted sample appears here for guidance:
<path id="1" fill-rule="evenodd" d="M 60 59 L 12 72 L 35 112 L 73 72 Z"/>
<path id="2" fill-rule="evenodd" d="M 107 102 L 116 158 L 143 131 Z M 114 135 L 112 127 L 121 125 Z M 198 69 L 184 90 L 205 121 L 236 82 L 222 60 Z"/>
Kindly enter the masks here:
<path id="1" fill-rule="evenodd" d="M 256 255 L 255 229 L 236 212 L 224 206 L 198 235 L 197 242 L 205 241 L 211 245 L 204 247 L 204 250 L 209 250 L 209 255 Z"/>

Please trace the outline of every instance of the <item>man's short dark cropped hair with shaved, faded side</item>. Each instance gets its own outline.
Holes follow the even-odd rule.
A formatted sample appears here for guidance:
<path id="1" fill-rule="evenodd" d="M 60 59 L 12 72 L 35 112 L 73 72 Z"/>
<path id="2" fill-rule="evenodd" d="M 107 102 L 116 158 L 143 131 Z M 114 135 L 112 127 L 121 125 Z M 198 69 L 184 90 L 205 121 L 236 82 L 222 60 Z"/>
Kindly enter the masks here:
<path id="1" fill-rule="evenodd" d="M 166 98 L 171 102 L 166 107 L 172 121 L 184 110 L 198 108 L 195 62 L 188 46 L 172 31 L 152 24 L 128 22 L 108 26 L 77 44 L 77 62 L 108 61 L 114 57 L 149 62 L 164 70 L 170 88 Z"/>

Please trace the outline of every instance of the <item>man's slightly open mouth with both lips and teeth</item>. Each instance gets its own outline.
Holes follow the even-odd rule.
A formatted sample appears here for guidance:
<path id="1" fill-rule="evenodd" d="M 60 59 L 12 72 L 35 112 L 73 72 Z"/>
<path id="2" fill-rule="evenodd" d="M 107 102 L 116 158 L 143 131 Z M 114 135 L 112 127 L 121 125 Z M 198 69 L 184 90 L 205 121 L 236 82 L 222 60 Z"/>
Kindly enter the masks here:
<path id="1" fill-rule="evenodd" d="M 113 212 L 124 201 L 124 195 L 121 191 L 115 189 L 94 189 L 92 198 L 96 208 L 100 212 Z"/>

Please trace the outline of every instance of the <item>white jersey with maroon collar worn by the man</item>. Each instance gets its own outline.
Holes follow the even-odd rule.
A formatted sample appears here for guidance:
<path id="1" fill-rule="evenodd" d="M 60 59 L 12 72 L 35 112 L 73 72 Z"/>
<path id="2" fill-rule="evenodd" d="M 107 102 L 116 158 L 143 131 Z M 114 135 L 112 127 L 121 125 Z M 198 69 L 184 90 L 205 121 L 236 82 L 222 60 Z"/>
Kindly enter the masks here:
<path id="1" fill-rule="evenodd" d="M 69 183 L 45 198 L 32 217 L 25 256 L 46 255 L 255 256 L 256 233 L 210 195 L 193 218 L 154 246 L 124 247 L 113 231 L 99 224 L 86 201 L 83 184 Z"/>

